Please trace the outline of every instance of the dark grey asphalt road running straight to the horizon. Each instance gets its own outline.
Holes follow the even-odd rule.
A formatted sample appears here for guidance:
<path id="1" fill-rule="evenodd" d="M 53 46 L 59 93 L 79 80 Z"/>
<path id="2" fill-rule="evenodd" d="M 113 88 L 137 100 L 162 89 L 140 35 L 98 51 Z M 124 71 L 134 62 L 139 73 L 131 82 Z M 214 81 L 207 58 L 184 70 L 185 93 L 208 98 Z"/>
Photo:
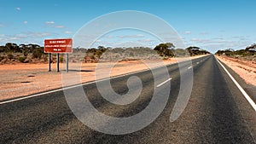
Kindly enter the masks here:
<path id="1" fill-rule="evenodd" d="M 193 70 L 193 89 L 184 112 L 172 123 L 170 115 L 181 85 L 182 72 L 177 64 L 167 66 L 172 78 L 171 89 L 165 84 L 158 88 L 170 90 L 166 107 L 142 130 L 126 135 L 92 130 L 76 118 L 63 92 L 58 91 L 0 105 L 0 143 L 256 143 L 256 112 L 214 56 L 195 59 L 192 65 L 189 67 L 185 62 L 181 65 L 188 66 L 188 71 Z M 166 79 L 160 77 L 161 68 L 156 71 L 159 80 L 155 83 L 165 82 Z M 148 107 L 154 94 L 151 71 L 111 79 L 114 91 L 126 94 L 129 90 L 126 81 L 131 76 L 142 79 L 143 89 L 129 105 L 106 101 L 96 84 L 85 84 L 84 92 L 99 112 L 118 118 L 130 117 Z M 240 78 L 237 81 L 242 83 Z M 73 88 L 73 95 L 77 95 L 76 89 Z"/>

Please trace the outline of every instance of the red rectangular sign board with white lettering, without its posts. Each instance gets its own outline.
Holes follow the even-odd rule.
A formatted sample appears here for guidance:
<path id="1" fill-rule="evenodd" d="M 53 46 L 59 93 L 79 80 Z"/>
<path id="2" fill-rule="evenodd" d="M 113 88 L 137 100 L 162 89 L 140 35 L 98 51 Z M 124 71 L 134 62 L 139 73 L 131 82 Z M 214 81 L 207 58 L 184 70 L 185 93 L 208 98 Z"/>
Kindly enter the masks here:
<path id="1" fill-rule="evenodd" d="M 72 38 L 45 39 L 44 53 L 72 53 Z"/>

